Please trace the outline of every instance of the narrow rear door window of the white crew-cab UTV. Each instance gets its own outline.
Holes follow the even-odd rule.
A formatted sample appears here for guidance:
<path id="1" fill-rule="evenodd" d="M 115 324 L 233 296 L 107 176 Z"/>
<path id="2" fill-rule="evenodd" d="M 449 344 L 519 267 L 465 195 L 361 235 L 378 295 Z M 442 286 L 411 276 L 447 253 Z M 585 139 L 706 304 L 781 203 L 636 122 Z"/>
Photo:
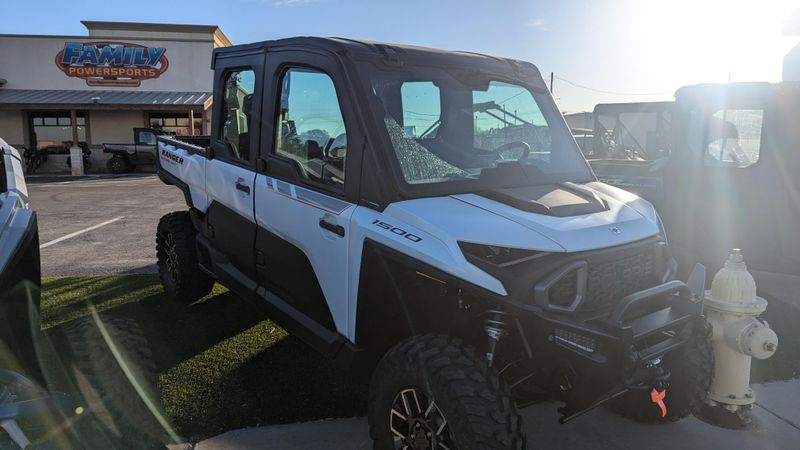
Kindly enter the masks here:
<path id="1" fill-rule="evenodd" d="M 222 88 L 220 136 L 228 147 L 228 156 L 250 160 L 250 128 L 256 77 L 252 70 L 237 70 L 225 75 Z"/>

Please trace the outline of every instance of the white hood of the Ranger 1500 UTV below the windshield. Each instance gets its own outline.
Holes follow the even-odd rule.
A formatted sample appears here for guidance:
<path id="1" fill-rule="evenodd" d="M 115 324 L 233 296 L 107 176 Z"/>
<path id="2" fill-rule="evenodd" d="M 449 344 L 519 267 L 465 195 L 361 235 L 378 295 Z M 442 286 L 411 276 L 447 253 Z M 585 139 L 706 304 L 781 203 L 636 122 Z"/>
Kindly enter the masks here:
<path id="1" fill-rule="evenodd" d="M 516 194 L 517 201 L 524 198 Z M 406 200 L 389 205 L 385 214 L 434 236 L 548 252 L 612 247 L 659 233 L 652 205 L 634 194 L 599 182 L 579 185 L 577 197 L 586 199 L 586 204 L 568 194 L 538 197 L 550 213 L 540 206 L 511 206 L 514 200 L 484 193 Z"/>

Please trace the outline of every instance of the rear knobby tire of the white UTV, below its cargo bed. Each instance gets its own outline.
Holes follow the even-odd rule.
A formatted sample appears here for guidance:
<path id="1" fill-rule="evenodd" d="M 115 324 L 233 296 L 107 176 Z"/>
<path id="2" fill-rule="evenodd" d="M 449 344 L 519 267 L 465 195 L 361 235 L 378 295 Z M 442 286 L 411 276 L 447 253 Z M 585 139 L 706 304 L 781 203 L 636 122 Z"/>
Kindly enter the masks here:
<path id="1" fill-rule="evenodd" d="M 158 222 L 158 274 L 167 295 L 181 303 L 199 300 L 214 286 L 198 265 L 195 235 L 188 211 L 169 213 Z"/>

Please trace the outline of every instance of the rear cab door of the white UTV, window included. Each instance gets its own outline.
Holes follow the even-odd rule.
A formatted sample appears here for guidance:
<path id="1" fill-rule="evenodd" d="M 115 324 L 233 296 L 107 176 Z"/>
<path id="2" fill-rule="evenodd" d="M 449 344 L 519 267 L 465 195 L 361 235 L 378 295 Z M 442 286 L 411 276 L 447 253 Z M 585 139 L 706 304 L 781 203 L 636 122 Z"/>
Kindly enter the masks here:
<path id="1" fill-rule="evenodd" d="M 217 275 L 255 290 L 255 161 L 261 123 L 264 54 L 217 57 L 211 151 L 206 164 L 209 207 L 204 236 Z M 230 283 L 232 282 L 232 283 Z"/>

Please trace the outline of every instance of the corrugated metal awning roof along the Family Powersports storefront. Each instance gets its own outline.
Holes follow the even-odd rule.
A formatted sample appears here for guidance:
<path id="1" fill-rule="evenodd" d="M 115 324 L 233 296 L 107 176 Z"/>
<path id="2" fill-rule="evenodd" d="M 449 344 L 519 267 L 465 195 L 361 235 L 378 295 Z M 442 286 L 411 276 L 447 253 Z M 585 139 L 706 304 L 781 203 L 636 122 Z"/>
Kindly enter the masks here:
<path id="1" fill-rule="evenodd" d="M 209 98 L 210 92 L 0 89 L 0 105 L 202 106 Z"/>

